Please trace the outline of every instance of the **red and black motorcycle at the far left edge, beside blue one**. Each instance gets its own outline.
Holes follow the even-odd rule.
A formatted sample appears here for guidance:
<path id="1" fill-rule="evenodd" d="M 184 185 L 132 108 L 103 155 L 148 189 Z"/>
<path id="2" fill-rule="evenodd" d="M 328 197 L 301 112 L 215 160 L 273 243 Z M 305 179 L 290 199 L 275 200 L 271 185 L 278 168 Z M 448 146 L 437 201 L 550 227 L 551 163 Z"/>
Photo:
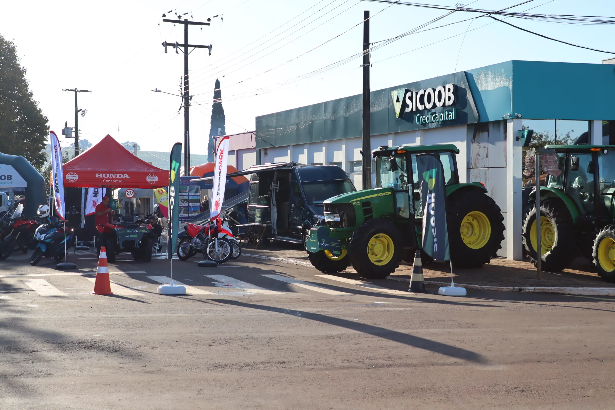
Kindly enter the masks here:
<path id="1" fill-rule="evenodd" d="M 28 253 L 29 248 L 34 248 L 34 231 L 41 223 L 36 218 L 23 218 L 22 211 L 23 205 L 20 203 L 13 215 L 5 216 L 0 223 L 4 236 L 0 260 L 8 258 L 13 251 Z"/>

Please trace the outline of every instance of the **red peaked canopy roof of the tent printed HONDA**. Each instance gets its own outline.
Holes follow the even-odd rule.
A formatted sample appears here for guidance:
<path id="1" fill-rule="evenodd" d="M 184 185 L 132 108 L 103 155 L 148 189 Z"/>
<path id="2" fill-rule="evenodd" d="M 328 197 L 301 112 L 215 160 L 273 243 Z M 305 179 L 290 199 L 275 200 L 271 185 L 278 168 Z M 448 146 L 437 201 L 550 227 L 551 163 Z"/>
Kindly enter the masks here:
<path id="1" fill-rule="evenodd" d="M 138 159 L 111 135 L 63 165 L 64 187 L 161 188 L 169 171 Z"/>

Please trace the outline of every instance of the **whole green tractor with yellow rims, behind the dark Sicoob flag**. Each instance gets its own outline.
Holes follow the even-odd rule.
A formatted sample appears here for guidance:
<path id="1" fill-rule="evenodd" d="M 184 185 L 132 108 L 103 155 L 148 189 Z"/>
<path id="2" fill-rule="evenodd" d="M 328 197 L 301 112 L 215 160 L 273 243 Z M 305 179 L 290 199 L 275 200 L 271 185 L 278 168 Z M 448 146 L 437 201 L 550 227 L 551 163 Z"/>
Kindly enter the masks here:
<path id="1" fill-rule="evenodd" d="M 324 217 L 306 240 L 309 260 L 322 272 L 352 264 L 361 277 L 385 278 L 421 248 L 423 205 L 416 155 L 439 156 L 446 182 L 446 223 L 453 264 L 480 267 L 504 239 L 504 217 L 481 183 L 459 183 L 453 144 L 381 146 L 376 188 L 348 192 L 324 202 Z M 426 259 L 426 255 L 423 256 Z"/>

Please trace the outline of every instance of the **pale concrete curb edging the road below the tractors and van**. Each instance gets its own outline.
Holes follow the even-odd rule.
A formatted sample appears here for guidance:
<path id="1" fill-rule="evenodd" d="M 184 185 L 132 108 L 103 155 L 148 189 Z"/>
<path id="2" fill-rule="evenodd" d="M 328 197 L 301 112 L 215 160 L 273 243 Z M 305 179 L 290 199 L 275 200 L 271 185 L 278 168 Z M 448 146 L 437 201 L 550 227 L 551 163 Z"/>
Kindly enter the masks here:
<path id="1" fill-rule="evenodd" d="M 298 261 L 296 259 L 285 258 L 273 258 L 272 256 L 261 256 L 242 253 L 242 256 L 249 256 L 250 258 L 266 259 L 268 261 L 286 262 L 293 265 L 308 266 L 312 264 L 309 262 Z M 391 280 L 399 280 L 400 282 L 410 282 L 408 278 L 399 277 L 387 277 Z M 435 282 L 433 280 L 426 280 L 425 285 L 435 286 L 448 286 L 450 282 Z M 500 292 L 534 292 L 534 293 L 557 293 L 557 294 L 574 294 L 579 296 L 615 296 L 615 288 L 532 288 L 532 287 L 518 287 L 518 286 L 480 286 L 480 285 L 466 285 L 464 283 L 455 283 L 455 285 L 462 286 L 467 289 L 476 290 L 493 290 Z"/>

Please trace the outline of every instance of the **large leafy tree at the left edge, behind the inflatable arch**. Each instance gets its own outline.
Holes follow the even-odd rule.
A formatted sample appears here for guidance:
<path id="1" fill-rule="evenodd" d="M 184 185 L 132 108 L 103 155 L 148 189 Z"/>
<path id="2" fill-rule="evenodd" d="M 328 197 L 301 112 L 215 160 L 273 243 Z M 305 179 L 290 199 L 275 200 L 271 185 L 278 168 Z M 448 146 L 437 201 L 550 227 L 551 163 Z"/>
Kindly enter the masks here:
<path id="1" fill-rule="evenodd" d="M 49 126 L 33 100 L 15 44 L 0 35 L 0 152 L 22 156 L 41 169 Z"/>

